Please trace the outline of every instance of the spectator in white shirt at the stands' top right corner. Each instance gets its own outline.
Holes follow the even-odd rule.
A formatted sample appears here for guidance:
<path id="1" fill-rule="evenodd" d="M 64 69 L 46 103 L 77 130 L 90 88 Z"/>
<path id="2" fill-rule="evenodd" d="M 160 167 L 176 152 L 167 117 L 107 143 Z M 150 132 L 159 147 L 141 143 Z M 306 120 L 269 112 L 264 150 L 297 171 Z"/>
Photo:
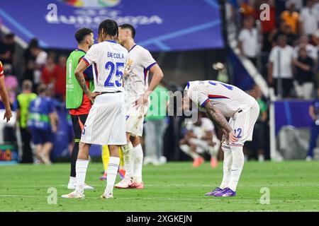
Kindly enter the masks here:
<path id="1" fill-rule="evenodd" d="M 319 11 L 314 7 L 314 3 L 313 0 L 307 0 L 306 6 L 301 9 L 300 28 L 302 34 L 313 35 L 318 30 Z"/>

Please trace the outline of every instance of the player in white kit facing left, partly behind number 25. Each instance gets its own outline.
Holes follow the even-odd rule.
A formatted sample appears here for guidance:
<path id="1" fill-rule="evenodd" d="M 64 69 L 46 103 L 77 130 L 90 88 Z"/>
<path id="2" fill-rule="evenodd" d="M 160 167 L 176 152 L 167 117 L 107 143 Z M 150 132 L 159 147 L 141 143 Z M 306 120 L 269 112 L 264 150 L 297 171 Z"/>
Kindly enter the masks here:
<path id="1" fill-rule="evenodd" d="M 150 94 L 163 78 L 150 52 L 135 44 L 135 29 L 132 25 L 119 26 L 119 42 L 128 49 L 128 60 L 133 63 L 128 76 L 124 78 L 126 104 L 126 137 L 128 144 L 122 146 L 125 165 L 125 178 L 116 184 L 119 189 L 143 189 L 142 162 L 143 151 L 140 145 L 143 121 L 150 107 Z M 152 73 L 152 81 L 148 85 L 148 73 Z"/>

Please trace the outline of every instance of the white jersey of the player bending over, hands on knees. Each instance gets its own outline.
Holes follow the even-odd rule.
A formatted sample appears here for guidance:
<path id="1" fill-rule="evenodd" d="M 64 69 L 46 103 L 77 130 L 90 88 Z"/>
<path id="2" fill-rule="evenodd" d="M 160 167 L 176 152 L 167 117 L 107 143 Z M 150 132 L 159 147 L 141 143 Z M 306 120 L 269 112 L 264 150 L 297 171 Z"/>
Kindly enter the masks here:
<path id="1" fill-rule="evenodd" d="M 240 109 L 245 112 L 256 102 L 240 88 L 219 81 L 191 81 L 185 90 L 198 106 L 204 107 L 210 101 L 225 117 L 233 117 Z"/>

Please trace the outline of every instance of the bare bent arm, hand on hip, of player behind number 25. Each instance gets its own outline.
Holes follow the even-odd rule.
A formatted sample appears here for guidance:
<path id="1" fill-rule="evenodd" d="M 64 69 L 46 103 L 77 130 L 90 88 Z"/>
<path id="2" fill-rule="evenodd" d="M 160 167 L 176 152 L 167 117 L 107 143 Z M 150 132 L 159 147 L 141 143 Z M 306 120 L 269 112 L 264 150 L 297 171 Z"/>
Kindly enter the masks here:
<path id="1" fill-rule="evenodd" d="M 150 73 L 153 74 L 152 80 L 150 82 L 150 85 L 148 86 L 146 92 L 144 95 L 142 95 L 138 100 L 135 101 L 134 106 L 142 106 L 145 105 L 148 102 L 148 97 L 150 97 L 151 93 L 159 82 L 162 80 L 164 77 L 162 69 L 158 66 L 158 64 L 155 64 L 150 68 Z"/>

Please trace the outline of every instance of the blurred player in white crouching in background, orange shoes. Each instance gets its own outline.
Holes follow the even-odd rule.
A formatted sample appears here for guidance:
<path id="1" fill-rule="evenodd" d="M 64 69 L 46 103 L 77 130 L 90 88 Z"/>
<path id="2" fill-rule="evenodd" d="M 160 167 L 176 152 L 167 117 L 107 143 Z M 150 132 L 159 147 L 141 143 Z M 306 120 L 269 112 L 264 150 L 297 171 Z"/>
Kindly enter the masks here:
<path id="1" fill-rule="evenodd" d="M 211 167 L 218 165 L 217 155 L 220 149 L 220 141 L 218 140 L 215 127 L 211 120 L 203 117 L 202 112 L 198 112 L 198 120 L 194 124 L 186 124 L 186 134 L 179 141 L 179 148 L 193 158 L 193 166 L 199 167 L 204 158 L 203 153 L 211 155 Z"/>

